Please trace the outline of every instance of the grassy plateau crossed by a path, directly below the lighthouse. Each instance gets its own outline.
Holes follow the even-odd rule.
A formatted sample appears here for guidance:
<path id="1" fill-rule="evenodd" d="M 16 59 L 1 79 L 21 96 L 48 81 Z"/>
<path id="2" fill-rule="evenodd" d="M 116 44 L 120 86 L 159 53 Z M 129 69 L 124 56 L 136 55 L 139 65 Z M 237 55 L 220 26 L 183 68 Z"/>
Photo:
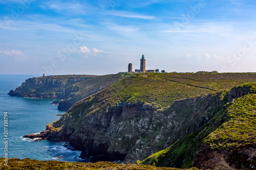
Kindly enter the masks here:
<path id="1" fill-rule="evenodd" d="M 254 82 L 256 74 L 133 74 L 76 104 L 105 109 L 121 102 L 145 102 L 165 108 L 175 101 Z M 74 107 L 75 109 L 76 107 Z"/>

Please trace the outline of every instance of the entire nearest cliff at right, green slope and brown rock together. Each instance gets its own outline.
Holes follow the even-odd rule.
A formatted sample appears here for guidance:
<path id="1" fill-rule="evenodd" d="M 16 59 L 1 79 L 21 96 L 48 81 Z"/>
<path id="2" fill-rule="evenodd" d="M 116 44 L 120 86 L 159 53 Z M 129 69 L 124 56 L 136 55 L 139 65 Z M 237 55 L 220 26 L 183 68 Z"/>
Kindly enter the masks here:
<path id="1" fill-rule="evenodd" d="M 216 170 L 255 168 L 255 85 L 248 83 L 224 91 L 220 95 L 221 109 L 202 128 L 142 163 Z"/>

